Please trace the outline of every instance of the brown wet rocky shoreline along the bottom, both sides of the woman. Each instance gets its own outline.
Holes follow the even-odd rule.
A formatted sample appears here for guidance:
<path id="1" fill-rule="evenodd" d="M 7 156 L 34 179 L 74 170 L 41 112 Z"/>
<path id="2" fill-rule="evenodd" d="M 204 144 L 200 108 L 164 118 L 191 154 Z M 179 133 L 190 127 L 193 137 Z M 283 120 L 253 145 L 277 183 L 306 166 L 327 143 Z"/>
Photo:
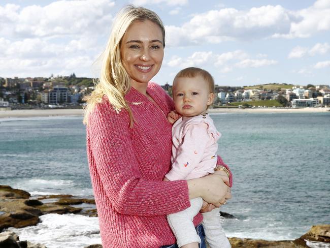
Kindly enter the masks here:
<path id="1" fill-rule="evenodd" d="M 91 204 L 93 207 L 79 207 L 81 204 Z M 87 216 L 97 216 L 94 199 L 78 198 L 72 195 L 50 195 L 31 197 L 23 190 L 13 189 L 8 185 L 0 185 L 0 247 L 16 248 L 46 248 L 43 244 L 32 244 L 28 241 L 20 241 L 19 237 L 6 231 L 9 227 L 23 228 L 37 225 L 39 216 L 46 213 L 79 213 Z M 233 218 L 233 215 L 222 213 L 225 218 Z M 330 247 L 330 225 L 313 226 L 309 232 L 295 240 L 267 241 L 249 238 L 229 238 L 233 248 L 303 248 L 313 242 L 323 242 Z M 101 248 L 102 245 L 89 245 L 88 248 Z"/>

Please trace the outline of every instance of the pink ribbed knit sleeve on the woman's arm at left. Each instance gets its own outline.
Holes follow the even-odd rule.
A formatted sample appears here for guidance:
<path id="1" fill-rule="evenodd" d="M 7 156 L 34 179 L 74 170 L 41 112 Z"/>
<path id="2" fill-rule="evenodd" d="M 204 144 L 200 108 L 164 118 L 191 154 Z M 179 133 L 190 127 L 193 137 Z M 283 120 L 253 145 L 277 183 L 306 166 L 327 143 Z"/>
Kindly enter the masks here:
<path id="1" fill-rule="evenodd" d="M 152 216 L 189 207 L 185 180 L 163 182 L 141 175 L 132 132 L 127 112 L 116 113 L 109 102 L 97 104 L 90 114 L 89 156 L 115 210 L 127 215 Z"/>

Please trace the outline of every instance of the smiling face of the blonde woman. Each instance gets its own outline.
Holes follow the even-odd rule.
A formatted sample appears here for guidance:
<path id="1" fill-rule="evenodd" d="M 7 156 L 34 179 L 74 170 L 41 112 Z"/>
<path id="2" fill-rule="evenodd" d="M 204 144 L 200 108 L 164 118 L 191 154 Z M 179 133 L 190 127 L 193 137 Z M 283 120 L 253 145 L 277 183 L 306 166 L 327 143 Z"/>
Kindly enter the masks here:
<path id="1" fill-rule="evenodd" d="M 160 27 L 150 21 L 135 21 L 127 28 L 120 46 L 121 60 L 133 87 L 157 74 L 164 56 Z"/>

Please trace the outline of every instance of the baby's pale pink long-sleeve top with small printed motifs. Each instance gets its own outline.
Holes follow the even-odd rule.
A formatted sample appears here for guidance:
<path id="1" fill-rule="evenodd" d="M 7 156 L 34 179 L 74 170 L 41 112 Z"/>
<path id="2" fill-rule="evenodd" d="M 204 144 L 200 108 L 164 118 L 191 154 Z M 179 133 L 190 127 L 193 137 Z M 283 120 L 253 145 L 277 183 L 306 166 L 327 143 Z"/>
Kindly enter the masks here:
<path id="1" fill-rule="evenodd" d="M 172 127 L 172 169 L 166 177 L 173 181 L 214 173 L 220 136 L 209 115 L 178 119 Z"/>

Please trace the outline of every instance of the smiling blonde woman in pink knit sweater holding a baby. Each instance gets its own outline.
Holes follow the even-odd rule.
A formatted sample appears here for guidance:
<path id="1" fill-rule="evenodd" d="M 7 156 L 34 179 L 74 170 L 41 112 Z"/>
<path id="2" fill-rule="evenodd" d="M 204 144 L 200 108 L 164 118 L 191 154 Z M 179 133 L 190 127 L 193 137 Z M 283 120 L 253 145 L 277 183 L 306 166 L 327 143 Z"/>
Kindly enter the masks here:
<path id="1" fill-rule="evenodd" d="M 171 167 L 172 126 L 166 116 L 174 105 L 149 81 L 160 69 L 164 37 L 154 12 L 123 9 L 100 80 L 86 98 L 87 154 L 104 248 L 174 244 L 166 214 L 189 207 L 191 198 L 220 206 L 231 197 L 223 174 L 162 181 Z M 196 215 L 194 224 L 201 220 Z"/>

